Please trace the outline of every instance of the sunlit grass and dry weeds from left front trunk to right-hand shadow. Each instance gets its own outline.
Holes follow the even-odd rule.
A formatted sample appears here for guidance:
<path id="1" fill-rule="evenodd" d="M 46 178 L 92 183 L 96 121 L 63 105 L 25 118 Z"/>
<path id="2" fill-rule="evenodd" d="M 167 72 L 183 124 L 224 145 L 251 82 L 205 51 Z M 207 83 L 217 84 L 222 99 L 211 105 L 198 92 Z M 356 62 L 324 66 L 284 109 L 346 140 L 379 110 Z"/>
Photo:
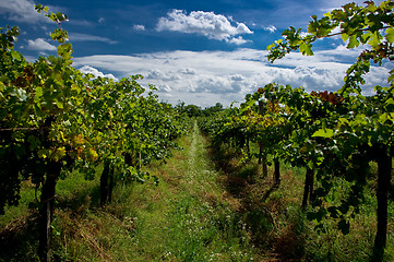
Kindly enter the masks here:
<path id="1" fill-rule="evenodd" d="M 105 209 L 59 210 L 55 257 L 79 261 L 251 261 L 260 250 L 217 182 L 207 142 L 195 128 L 167 165 L 153 164 L 158 186 L 118 184 Z"/>

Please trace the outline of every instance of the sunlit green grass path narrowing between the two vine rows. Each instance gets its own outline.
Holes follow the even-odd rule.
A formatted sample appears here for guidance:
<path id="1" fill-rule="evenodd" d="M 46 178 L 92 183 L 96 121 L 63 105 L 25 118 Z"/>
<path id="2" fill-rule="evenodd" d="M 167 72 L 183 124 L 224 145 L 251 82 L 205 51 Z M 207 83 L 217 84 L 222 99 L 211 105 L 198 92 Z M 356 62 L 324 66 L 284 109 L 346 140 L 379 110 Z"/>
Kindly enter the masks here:
<path id="1" fill-rule="evenodd" d="M 252 261 L 255 250 L 244 225 L 226 203 L 226 192 L 217 182 L 220 174 L 196 124 L 181 145 L 184 151 L 156 167 L 162 180 L 158 188 L 135 186 L 128 196 L 134 205 L 129 217 L 135 228 L 131 247 L 126 240 L 129 247 L 120 257 L 128 261 Z M 117 202 L 121 199 L 120 194 Z"/>

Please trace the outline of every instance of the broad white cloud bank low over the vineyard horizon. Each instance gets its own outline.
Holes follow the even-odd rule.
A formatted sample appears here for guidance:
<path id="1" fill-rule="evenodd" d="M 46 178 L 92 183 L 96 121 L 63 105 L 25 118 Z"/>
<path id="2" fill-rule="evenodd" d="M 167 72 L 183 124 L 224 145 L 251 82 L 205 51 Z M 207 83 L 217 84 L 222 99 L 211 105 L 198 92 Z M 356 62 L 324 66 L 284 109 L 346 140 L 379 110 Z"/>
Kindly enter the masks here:
<path id="1" fill-rule="evenodd" d="M 336 91 L 343 85 L 346 69 L 354 62 L 346 49 L 315 51 L 313 57 L 289 53 L 271 64 L 266 51 L 238 49 L 235 51 L 170 51 L 135 56 L 92 56 L 75 58 L 74 64 L 88 64 L 115 75 L 146 76 L 140 83 L 158 87 L 162 99 L 177 104 L 212 106 L 219 102 L 228 106 L 271 82 L 303 86 L 308 92 Z M 372 94 L 372 86 L 385 85 L 390 69 L 372 68 L 367 76 L 365 94 Z"/>

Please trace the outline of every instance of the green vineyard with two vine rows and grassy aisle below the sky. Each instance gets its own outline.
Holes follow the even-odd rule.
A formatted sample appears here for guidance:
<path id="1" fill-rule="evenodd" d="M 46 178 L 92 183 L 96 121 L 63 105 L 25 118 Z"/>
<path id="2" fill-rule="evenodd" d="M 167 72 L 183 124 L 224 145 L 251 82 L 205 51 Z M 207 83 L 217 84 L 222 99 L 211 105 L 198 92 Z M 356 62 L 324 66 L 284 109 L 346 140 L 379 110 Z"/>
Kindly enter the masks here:
<path id="1" fill-rule="evenodd" d="M 1 28 L 0 260 L 394 260 L 394 69 L 362 94 L 394 59 L 393 8 L 349 3 L 267 47 L 367 46 L 337 92 L 270 83 L 201 110 L 82 74 L 67 15 L 36 5 L 58 56 L 28 62 Z"/>

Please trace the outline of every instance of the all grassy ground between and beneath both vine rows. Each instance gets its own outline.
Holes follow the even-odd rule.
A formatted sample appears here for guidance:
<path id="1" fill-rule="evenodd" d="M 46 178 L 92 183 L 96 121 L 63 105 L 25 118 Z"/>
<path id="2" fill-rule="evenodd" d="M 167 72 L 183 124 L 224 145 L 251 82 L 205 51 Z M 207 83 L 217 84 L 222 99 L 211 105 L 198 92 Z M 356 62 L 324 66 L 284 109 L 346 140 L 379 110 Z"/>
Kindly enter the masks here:
<path id="1" fill-rule="evenodd" d="M 342 235 L 334 221 L 324 233 L 301 209 L 305 169 L 280 165 L 262 177 L 256 160 L 229 147 L 210 148 L 195 127 L 179 140 L 167 164 L 145 171 L 159 178 L 118 183 L 112 203 L 99 206 L 99 178 L 73 172 L 57 187 L 52 223 L 55 261 L 369 261 L 377 200 L 371 181 L 361 213 Z M 253 147 L 252 147 L 253 150 Z M 100 167 L 97 174 L 100 172 Z M 35 261 L 37 216 L 28 209 L 34 188 L 25 182 L 21 205 L 0 217 L 10 247 L 0 261 Z M 308 211 L 308 210 L 307 210 Z M 389 209 L 386 261 L 394 260 L 394 205 Z"/>

